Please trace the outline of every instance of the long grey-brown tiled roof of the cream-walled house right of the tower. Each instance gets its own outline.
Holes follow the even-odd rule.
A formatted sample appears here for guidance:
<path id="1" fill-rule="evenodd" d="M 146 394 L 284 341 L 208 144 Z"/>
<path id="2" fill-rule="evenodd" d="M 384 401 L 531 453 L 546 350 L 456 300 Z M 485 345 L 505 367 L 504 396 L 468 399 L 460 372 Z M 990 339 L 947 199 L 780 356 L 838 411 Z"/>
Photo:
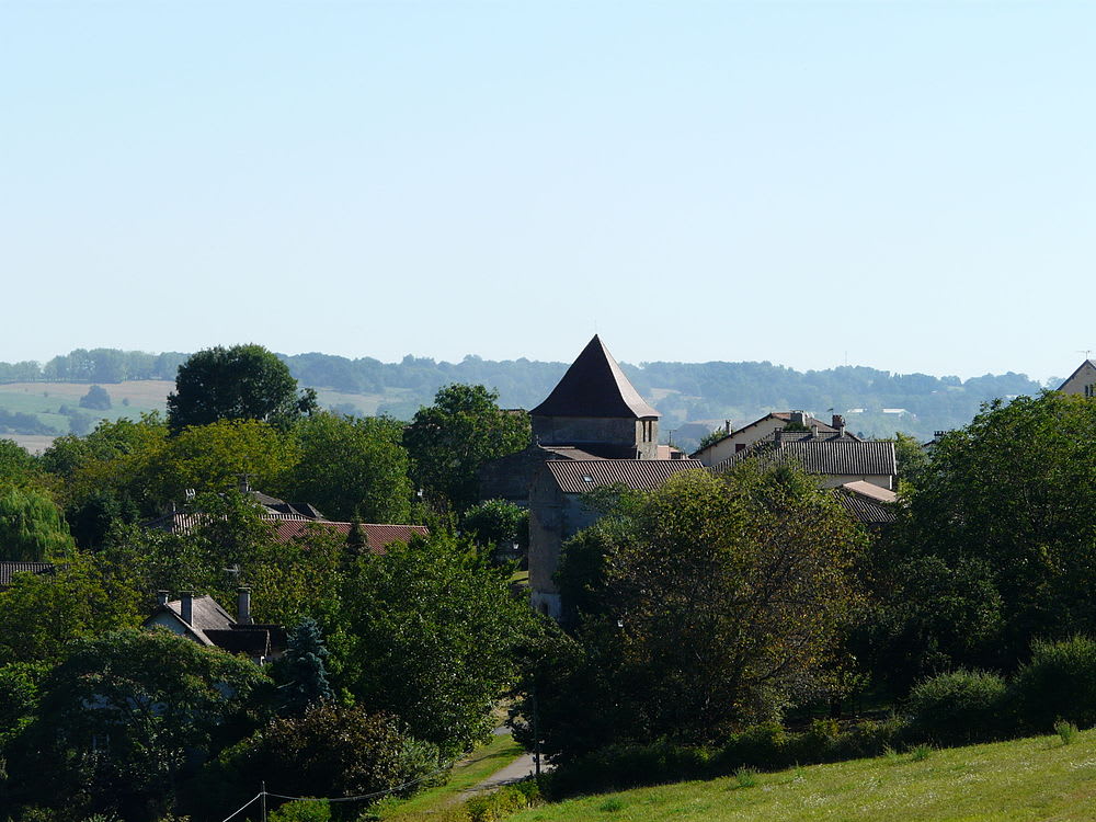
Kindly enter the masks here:
<path id="1" fill-rule="evenodd" d="M 711 470 L 721 473 L 743 459 L 751 458 L 757 458 L 763 464 L 795 460 L 808 473 L 875 477 L 893 476 L 898 472 L 893 443 L 810 438 L 779 444 L 772 439 L 762 441 L 717 463 Z"/>

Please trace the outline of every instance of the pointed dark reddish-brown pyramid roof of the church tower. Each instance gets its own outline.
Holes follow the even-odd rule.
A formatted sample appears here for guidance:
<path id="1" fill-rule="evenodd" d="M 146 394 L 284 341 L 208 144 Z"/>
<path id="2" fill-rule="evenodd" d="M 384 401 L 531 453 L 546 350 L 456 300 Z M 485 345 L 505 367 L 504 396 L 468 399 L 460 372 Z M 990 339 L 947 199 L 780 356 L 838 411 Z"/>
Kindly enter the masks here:
<path id="1" fill-rule="evenodd" d="M 642 420 L 659 416 L 620 370 L 597 334 L 571 363 L 548 399 L 529 411 L 534 416 L 609 416 Z"/>

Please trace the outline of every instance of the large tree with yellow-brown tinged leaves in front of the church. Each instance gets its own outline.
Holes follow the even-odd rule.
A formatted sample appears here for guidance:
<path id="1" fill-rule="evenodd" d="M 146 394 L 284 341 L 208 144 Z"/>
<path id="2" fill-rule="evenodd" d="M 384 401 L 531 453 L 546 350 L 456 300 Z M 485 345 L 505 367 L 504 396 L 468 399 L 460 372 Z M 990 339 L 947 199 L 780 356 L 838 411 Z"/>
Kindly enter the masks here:
<path id="1" fill-rule="evenodd" d="M 778 719 L 818 693 L 859 607 L 859 530 L 797 470 L 685 472 L 636 496 L 601 528 L 600 562 L 580 540 L 587 613 L 527 683 L 557 755 Z"/>

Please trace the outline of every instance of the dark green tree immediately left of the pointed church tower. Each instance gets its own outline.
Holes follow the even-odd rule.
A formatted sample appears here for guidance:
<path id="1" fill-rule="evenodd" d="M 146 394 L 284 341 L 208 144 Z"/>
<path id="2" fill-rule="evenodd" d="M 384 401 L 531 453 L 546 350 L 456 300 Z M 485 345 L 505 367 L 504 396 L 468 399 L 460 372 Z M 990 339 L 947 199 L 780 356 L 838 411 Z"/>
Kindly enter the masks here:
<path id="1" fill-rule="evenodd" d="M 480 467 L 528 445 L 528 415 L 500 409 L 498 399 L 483 386 L 446 386 L 404 430 L 411 477 L 435 502 L 469 507 L 479 498 Z"/>

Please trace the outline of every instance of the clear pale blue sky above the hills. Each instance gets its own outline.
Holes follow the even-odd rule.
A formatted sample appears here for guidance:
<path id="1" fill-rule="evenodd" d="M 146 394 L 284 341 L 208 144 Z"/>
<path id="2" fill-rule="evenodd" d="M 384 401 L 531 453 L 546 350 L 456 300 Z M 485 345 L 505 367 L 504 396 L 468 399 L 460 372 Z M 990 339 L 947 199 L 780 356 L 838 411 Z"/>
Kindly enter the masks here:
<path id="1" fill-rule="evenodd" d="M 1068 376 L 1096 3 L 0 0 L 0 361 Z"/>

